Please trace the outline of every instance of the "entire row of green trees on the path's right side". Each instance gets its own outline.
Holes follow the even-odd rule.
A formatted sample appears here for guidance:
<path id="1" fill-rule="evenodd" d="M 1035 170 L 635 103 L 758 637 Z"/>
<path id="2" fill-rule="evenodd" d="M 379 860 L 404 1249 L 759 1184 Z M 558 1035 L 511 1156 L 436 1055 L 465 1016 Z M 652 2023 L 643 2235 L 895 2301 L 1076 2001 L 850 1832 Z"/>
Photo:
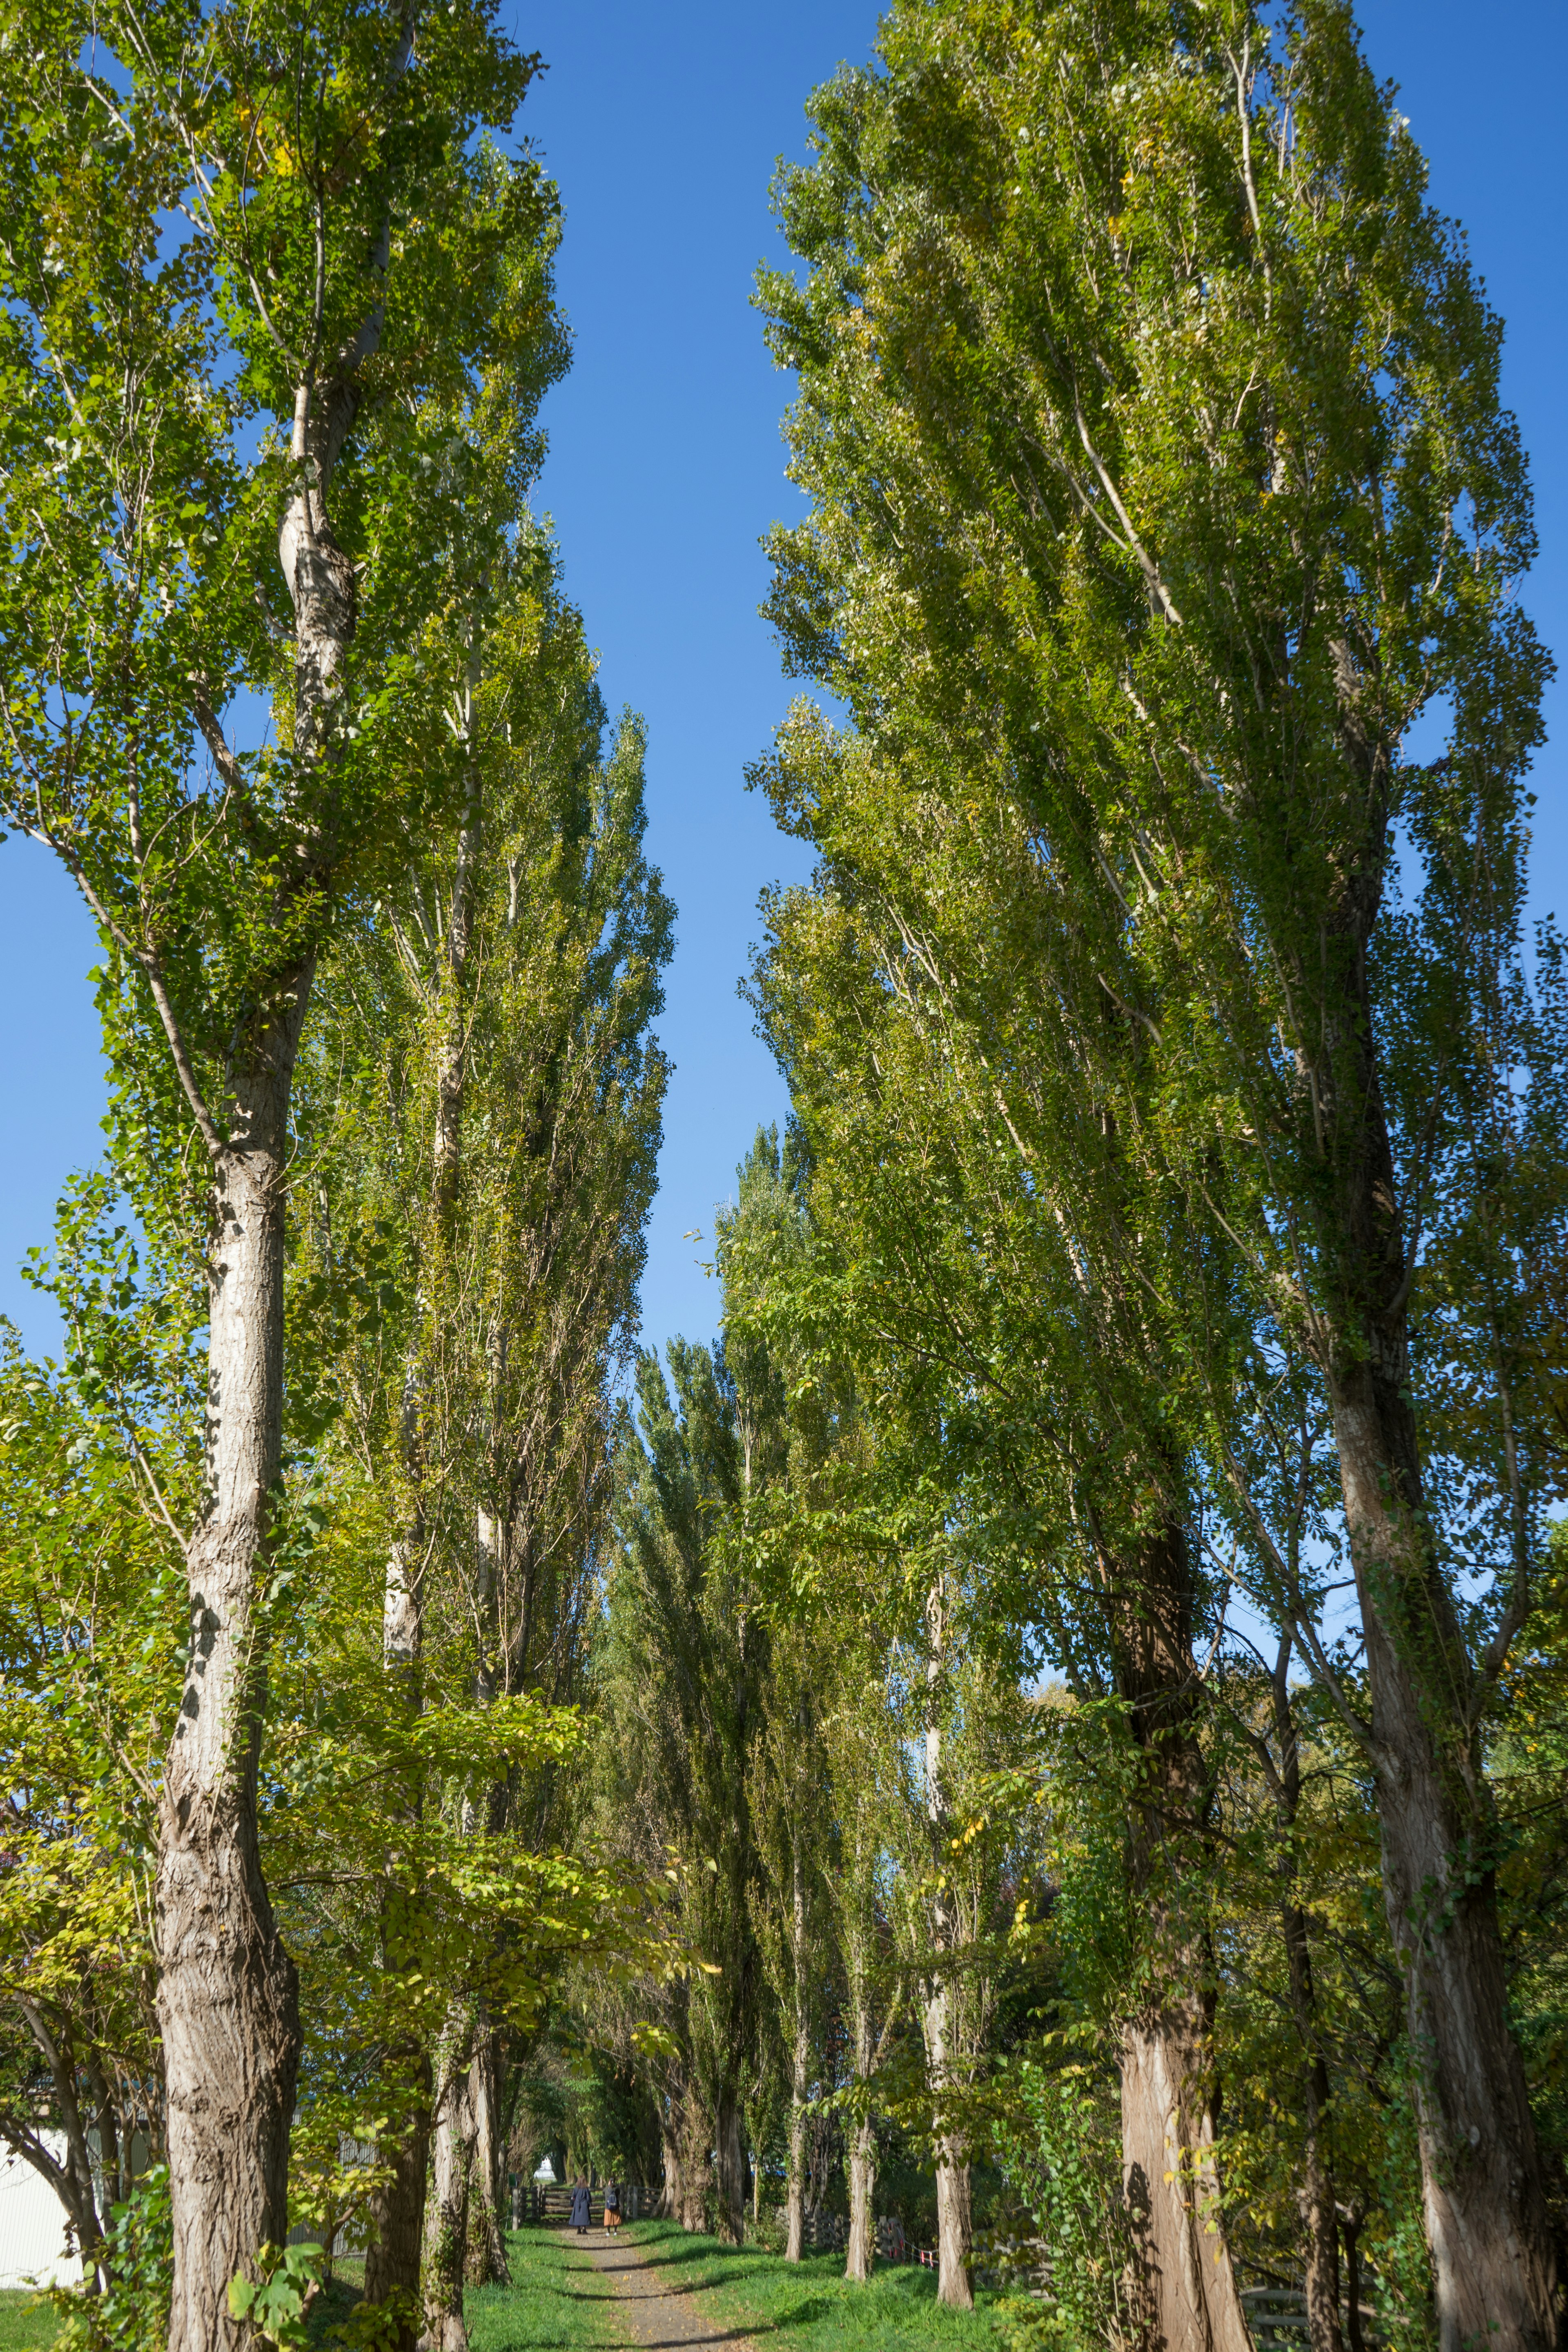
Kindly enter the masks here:
<path id="1" fill-rule="evenodd" d="M 731 2227 L 769 2030 L 792 2199 L 804 2105 L 910 2114 L 867 2107 L 795 1823 L 853 1851 L 919 1738 L 933 1844 L 884 1813 L 875 1915 L 950 2300 L 990 2074 L 1058 2298 L 1074 2249 L 1114 2281 L 1091 2336 L 1239 2352 L 1234 2253 L 1338 2352 L 1371 2244 L 1387 2326 L 1544 2347 L 1568 1004 L 1521 922 L 1549 661 L 1500 325 L 1333 0 L 893 7 L 813 122 L 762 280 L 811 501 L 769 612 L 839 715 L 755 774 L 820 866 L 752 981 L 809 1214 L 752 1254 L 750 1169 L 724 1350 L 675 1399 L 644 1369 L 628 1439 L 602 1736 L 722 1971 L 646 2079 L 670 2133 L 698 2091 Z M 1114 2070 L 1088 2234 L 1103 2077 L 1034 2058 L 1013 2110 L 980 2065 L 997 1813 L 950 1813 L 914 1703 L 954 1658 L 1051 1820 L 1048 1889 L 1013 1804 L 992 1891 Z M 849 1719 L 882 1773 L 813 1745 Z"/>

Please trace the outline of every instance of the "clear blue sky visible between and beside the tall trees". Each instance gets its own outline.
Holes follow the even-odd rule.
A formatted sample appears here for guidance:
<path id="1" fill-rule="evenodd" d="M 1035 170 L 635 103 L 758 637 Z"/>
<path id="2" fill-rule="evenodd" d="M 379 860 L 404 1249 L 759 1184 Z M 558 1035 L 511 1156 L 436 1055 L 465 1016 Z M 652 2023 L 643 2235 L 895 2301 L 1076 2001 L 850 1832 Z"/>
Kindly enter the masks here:
<path id="1" fill-rule="evenodd" d="M 773 374 L 748 306 L 773 252 L 766 191 L 804 143 L 802 106 L 839 59 L 870 49 L 877 9 L 665 0 L 510 7 L 550 61 L 522 115 L 567 207 L 559 289 L 576 360 L 550 395 L 541 503 L 567 588 L 602 654 L 604 696 L 649 720 L 651 851 L 679 908 L 663 1037 L 677 1070 L 665 1115 L 644 1329 L 705 1336 L 715 1287 L 691 1228 L 759 1120 L 785 1110 L 736 978 L 757 936 L 757 891 L 804 873 L 741 771 L 785 708 L 766 626 L 759 532 L 792 508 Z M 1505 390 L 1535 463 L 1542 555 L 1528 604 L 1568 656 L 1568 240 L 1561 200 L 1561 0 L 1363 0 L 1371 61 L 1432 162 L 1436 202 L 1469 228 L 1507 320 Z M 1549 701 L 1540 760 L 1535 903 L 1568 913 L 1568 687 Z M 54 1343 L 16 1263 L 49 1235 L 73 1167 L 96 1157 L 103 1080 L 82 974 L 92 929 L 47 856 L 0 847 L 0 1312 Z"/>

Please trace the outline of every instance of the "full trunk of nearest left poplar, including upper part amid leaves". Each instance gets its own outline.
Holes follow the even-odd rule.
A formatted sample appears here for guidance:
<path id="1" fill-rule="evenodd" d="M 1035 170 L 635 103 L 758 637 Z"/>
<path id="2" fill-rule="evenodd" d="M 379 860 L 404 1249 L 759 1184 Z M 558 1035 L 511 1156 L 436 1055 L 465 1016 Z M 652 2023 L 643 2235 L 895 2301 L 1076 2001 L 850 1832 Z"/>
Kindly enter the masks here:
<path id="1" fill-rule="evenodd" d="M 411 49 L 404 12 L 393 80 Z M 390 221 L 374 259 L 386 273 Z M 357 372 L 374 360 L 383 325 L 386 306 L 374 301 L 339 369 L 294 395 L 294 477 L 277 555 L 294 604 L 301 793 L 282 917 L 296 894 L 327 884 L 339 854 L 336 713 L 355 633 L 355 567 L 331 534 L 327 494 L 360 407 Z M 287 2237 L 299 1980 L 256 1842 L 266 1656 L 254 1595 L 282 1456 L 289 1094 L 313 978 L 308 943 L 273 969 L 240 1021 L 228 1136 L 197 1110 L 212 1157 L 207 1496 L 186 1552 L 190 1661 L 165 1764 L 155 1886 L 174 2213 L 169 2352 L 228 2345 L 228 2281 L 263 2241 Z M 193 1091 L 183 1061 L 181 1080 Z"/>

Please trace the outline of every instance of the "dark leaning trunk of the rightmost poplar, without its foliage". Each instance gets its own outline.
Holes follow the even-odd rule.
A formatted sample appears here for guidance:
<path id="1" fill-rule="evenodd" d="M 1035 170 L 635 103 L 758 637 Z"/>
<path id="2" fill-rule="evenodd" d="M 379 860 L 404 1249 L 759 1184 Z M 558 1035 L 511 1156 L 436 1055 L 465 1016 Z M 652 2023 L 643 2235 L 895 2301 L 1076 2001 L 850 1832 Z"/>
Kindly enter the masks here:
<path id="1" fill-rule="evenodd" d="M 1371 774 L 1352 717 L 1347 750 Z M 1507 2016 L 1476 1677 L 1434 1555 L 1410 1397 L 1410 1270 L 1366 978 L 1382 854 L 1380 835 L 1361 898 L 1352 891 L 1338 1054 L 1316 1073 L 1338 1178 L 1321 1235 L 1338 1324 L 1328 1397 L 1366 1635 L 1382 1893 L 1418 2063 L 1441 2352 L 1552 2352 L 1556 2246 Z"/>

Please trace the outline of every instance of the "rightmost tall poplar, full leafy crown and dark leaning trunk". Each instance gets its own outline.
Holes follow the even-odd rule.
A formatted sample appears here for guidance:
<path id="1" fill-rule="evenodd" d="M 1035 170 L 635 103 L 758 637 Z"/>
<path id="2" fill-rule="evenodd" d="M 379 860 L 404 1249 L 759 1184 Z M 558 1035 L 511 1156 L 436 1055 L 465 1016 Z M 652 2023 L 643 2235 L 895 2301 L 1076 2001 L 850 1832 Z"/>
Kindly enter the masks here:
<path id="1" fill-rule="evenodd" d="M 1481 934 L 1519 931 L 1547 663 L 1500 325 L 1338 0 L 903 5 L 816 125 L 780 181 L 809 278 L 764 282 L 813 499 L 773 614 L 891 767 L 1023 811 L 1147 1047 L 1150 1164 L 1225 1235 L 1239 1322 L 1314 1367 L 1371 1719 L 1274 1599 L 1373 1773 L 1441 2340 L 1547 2347 L 1483 1750 L 1530 1543 L 1460 1604 L 1410 1381 L 1474 1030 L 1399 1051 L 1410 976 L 1429 1004 L 1467 976 L 1462 1009 Z M 1237 1399 L 1204 1378 L 1229 1477 Z"/>

